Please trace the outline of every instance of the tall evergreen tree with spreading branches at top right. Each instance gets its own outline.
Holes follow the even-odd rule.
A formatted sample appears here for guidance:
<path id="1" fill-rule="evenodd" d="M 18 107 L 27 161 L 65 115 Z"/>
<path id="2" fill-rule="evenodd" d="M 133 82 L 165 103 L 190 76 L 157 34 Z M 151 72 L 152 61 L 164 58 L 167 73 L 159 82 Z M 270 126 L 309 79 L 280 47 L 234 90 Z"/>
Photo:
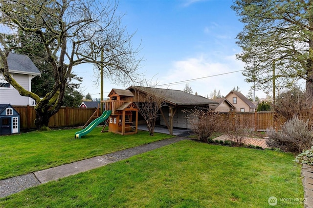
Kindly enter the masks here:
<path id="1" fill-rule="evenodd" d="M 272 90 L 303 79 L 313 96 L 313 3 L 311 0 L 235 0 L 244 29 L 237 36 L 246 81 Z"/>

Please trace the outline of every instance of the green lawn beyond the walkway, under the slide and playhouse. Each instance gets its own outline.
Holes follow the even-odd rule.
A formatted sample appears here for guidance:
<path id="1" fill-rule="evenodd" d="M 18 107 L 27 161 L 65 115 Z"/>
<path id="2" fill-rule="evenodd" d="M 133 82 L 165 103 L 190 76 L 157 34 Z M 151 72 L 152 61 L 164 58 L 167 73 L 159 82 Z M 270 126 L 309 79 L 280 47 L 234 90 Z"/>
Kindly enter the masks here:
<path id="1" fill-rule="evenodd" d="M 0 136 L 0 179 L 171 137 L 160 133 L 150 136 L 145 131 L 121 136 L 111 132 L 101 133 L 101 129 L 98 127 L 81 139 L 74 138 L 79 129 Z"/>

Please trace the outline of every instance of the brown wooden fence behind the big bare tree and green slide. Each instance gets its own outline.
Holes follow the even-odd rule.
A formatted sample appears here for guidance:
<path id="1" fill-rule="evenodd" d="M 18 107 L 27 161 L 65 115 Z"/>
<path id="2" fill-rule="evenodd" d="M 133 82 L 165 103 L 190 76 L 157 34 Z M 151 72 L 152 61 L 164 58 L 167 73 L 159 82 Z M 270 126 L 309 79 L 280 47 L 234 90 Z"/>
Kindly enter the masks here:
<path id="1" fill-rule="evenodd" d="M 20 113 L 20 129 L 35 129 L 36 112 L 33 106 L 13 106 Z M 61 107 L 58 113 L 49 120 L 49 127 L 76 127 L 83 126 L 96 108 L 69 108 Z"/>

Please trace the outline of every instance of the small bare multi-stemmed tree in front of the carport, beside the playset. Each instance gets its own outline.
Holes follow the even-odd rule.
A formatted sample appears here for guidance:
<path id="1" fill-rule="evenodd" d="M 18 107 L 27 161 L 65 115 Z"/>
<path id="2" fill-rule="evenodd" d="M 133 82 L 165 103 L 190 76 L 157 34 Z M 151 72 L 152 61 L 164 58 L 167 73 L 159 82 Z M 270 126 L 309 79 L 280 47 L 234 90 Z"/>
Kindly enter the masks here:
<path id="1" fill-rule="evenodd" d="M 145 119 L 148 131 L 153 136 L 159 109 L 166 104 L 163 89 L 142 86 L 131 88 L 135 95 L 134 103 L 138 107 L 138 112 Z"/>

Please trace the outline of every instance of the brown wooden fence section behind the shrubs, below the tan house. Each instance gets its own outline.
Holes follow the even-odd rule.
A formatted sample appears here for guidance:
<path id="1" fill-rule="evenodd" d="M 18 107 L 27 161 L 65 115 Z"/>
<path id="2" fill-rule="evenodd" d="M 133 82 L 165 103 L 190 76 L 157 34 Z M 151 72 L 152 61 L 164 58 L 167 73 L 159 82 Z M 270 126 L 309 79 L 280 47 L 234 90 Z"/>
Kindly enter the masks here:
<path id="1" fill-rule="evenodd" d="M 229 121 L 236 121 L 240 127 L 254 131 L 266 131 L 270 127 L 277 129 L 284 122 L 277 118 L 273 111 L 231 112 L 225 114 L 228 116 Z"/>

